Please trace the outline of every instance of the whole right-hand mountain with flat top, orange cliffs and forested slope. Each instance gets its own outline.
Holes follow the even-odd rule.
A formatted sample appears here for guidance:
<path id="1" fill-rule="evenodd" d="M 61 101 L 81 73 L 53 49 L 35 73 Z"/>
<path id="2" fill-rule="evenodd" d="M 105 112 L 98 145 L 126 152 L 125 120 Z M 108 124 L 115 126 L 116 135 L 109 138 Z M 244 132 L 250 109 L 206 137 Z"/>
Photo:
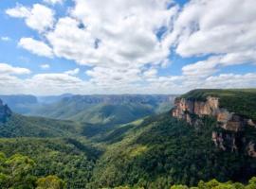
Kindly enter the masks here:
<path id="1" fill-rule="evenodd" d="M 108 132 L 91 185 L 169 188 L 250 179 L 256 175 L 255 92 L 195 90 L 177 98 L 172 112 Z"/>

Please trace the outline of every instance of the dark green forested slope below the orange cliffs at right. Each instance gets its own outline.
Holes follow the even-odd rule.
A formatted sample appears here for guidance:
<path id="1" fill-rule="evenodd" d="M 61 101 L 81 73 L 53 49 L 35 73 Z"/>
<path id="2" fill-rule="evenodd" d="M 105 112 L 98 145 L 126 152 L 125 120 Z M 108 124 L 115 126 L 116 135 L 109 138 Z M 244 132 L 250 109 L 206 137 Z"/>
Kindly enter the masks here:
<path id="1" fill-rule="evenodd" d="M 194 129 L 169 113 L 145 119 L 137 126 L 109 133 L 107 146 L 95 166 L 91 186 L 119 185 L 169 188 L 199 180 L 247 180 L 256 174 L 256 160 L 247 151 L 223 151 L 214 146 L 216 121 L 201 119 Z M 118 131 L 119 130 L 119 131 Z M 120 137 L 120 138 L 119 138 Z"/>

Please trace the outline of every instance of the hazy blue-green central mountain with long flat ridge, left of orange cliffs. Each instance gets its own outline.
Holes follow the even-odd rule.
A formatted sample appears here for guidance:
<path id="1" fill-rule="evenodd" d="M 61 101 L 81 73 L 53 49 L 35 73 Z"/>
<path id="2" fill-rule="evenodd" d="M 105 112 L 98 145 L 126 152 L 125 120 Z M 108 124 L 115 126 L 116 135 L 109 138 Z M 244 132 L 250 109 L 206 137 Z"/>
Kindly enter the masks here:
<path id="1" fill-rule="evenodd" d="M 174 95 L 73 95 L 30 112 L 91 124 L 124 124 L 172 108 Z"/>

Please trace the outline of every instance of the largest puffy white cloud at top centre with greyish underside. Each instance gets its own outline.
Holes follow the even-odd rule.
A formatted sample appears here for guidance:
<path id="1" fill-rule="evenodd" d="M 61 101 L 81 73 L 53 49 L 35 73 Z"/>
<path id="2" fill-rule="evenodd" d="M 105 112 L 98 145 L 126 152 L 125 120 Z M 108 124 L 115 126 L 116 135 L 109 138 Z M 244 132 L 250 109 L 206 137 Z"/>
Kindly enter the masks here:
<path id="1" fill-rule="evenodd" d="M 168 27 L 176 13 L 176 8 L 167 9 L 170 1 L 75 2 L 71 16 L 46 35 L 58 57 L 93 66 L 139 67 L 159 64 L 169 55 L 155 33 Z"/>

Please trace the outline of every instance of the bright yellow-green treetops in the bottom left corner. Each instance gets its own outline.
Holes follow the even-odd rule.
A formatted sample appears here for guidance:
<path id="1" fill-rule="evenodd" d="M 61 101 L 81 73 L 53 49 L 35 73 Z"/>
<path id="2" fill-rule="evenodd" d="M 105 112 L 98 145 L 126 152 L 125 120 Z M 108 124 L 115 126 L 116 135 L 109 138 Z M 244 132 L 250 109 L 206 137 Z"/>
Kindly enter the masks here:
<path id="1" fill-rule="evenodd" d="M 65 183 L 56 176 L 37 180 L 33 175 L 36 163 L 27 156 L 14 154 L 7 158 L 1 152 L 0 188 L 9 189 L 64 189 Z"/>

